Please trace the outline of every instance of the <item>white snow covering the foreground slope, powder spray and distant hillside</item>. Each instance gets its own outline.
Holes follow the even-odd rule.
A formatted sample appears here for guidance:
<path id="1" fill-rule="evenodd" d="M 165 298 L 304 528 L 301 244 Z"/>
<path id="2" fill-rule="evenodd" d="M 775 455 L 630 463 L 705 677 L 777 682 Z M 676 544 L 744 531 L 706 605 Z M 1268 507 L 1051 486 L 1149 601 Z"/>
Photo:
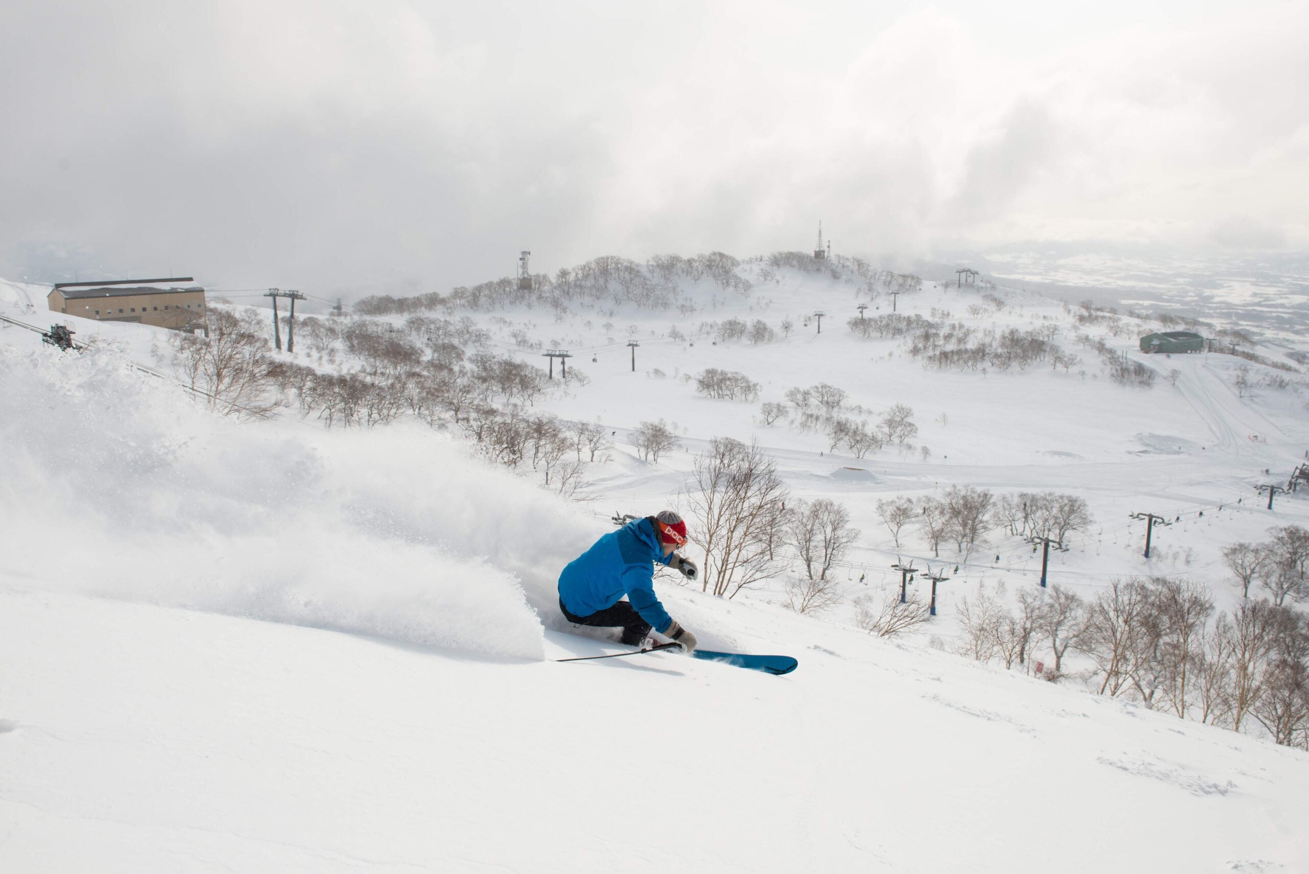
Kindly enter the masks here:
<path id="1" fill-rule="evenodd" d="M 0 311 L 48 323 L 25 306 L 43 292 L 0 287 Z M 1005 297 L 1020 323 L 1062 311 Z M 929 289 L 899 309 L 962 318 L 973 300 Z M 1085 496 L 1098 533 L 1051 569 L 1084 593 L 1186 572 L 1223 602 L 1223 544 L 1305 521 L 1299 500 L 1270 516 L 1251 488 L 1302 455 L 1302 404 L 1237 398 L 1228 358 L 1147 360 L 1181 370 L 1149 391 L 1076 370 L 925 372 L 850 335 L 853 304 L 798 277 L 687 319 L 624 313 L 636 373 L 601 336 L 607 317 L 497 314 L 539 322 L 551 347 L 603 347 L 577 355 L 589 385 L 545 404 L 619 432 L 589 505 L 414 423 L 216 419 L 128 368 L 149 361 L 149 328 L 68 319 L 117 348 L 63 356 L 0 327 L 0 870 L 1309 869 L 1302 751 L 796 616 L 767 589 L 661 591 L 702 645 L 798 657 L 784 678 L 672 654 L 550 661 L 617 650 L 565 633 L 562 564 L 609 512 L 678 502 L 689 451 L 623 451 L 643 419 L 675 420 L 687 450 L 755 434 L 797 495 L 846 502 L 865 533 L 851 594 L 860 573 L 890 581 L 874 501 L 949 484 Z M 833 314 L 822 335 L 775 344 L 658 336 L 734 314 L 798 327 L 816 306 Z M 763 400 L 827 381 L 872 410 L 910 403 L 931 455 L 819 454 L 821 436 L 677 379 L 706 366 L 759 379 Z M 833 476 L 844 467 L 869 478 Z M 1139 557 L 1128 512 L 1217 504 Z M 999 563 L 942 555 L 962 567 L 932 633 L 950 636 L 957 594 L 1034 585 L 1029 547 L 990 546 Z"/>

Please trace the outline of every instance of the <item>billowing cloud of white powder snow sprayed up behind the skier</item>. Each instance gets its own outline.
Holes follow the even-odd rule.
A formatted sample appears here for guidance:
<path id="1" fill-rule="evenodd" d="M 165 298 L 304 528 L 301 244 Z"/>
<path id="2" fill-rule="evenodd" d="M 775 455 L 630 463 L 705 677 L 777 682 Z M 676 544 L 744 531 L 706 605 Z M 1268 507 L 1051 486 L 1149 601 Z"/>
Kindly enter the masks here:
<path id="1" fill-rule="evenodd" d="M 480 654 L 542 656 L 533 606 L 590 536 L 425 428 L 223 420 L 106 351 L 0 345 L 0 457 L 35 589 Z"/>

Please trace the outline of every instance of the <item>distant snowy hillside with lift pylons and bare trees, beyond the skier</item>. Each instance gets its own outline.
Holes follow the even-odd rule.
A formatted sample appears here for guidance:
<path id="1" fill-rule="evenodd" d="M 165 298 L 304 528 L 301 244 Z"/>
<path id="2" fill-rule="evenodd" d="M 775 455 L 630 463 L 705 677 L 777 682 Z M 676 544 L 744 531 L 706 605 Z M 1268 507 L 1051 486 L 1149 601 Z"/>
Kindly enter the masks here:
<path id="1" fill-rule="evenodd" d="M 573 368 L 590 378 L 539 402 L 539 407 L 565 419 L 603 423 L 617 432 L 626 455 L 618 464 L 592 472 L 594 492 L 605 510 L 636 512 L 651 502 L 677 504 L 691 467 L 691 457 L 715 436 L 757 438 L 778 461 L 797 497 L 830 497 L 843 502 L 863 533 L 851 551 L 850 580 L 867 574 L 882 585 L 898 585 L 889 565 L 899 557 L 944 563 L 953 582 L 944 593 L 944 614 L 950 616 L 959 595 L 1009 586 L 1035 585 L 1041 556 L 1030 546 L 992 531 L 987 547 L 971 556 L 953 548 L 935 556 L 925 540 L 906 529 L 897 544 L 876 513 L 876 504 L 897 496 L 939 495 L 950 485 L 974 485 L 996 495 L 1017 491 L 1058 491 L 1084 497 L 1096 519 L 1092 530 L 1073 538 L 1073 548 L 1051 556 L 1050 580 L 1094 595 L 1113 577 L 1187 573 L 1215 587 L 1220 607 L 1237 597 L 1227 582 L 1220 550 L 1237 540 L 1259 540 L 1272 525 L 1309 522 L 1309 502 L 1280 498 L 1270 514 L 1255 492 L 1267 481 L 1285 483 L 1309 447 L 1309 394 L 1301 389 L 1266 390 L 1241 398 L 1233 376 L 1246 362 L 1227 355 L 1144 356 L 1136 348 L 1136 330 L 1114 336 L 1103 327 L 1081 327 L 1067 307 L 1038 294 L 1014 289 L 986 289 L 1007 301 L 1003 310 L 979 305 L 983 289 L 925 284 L 922 292 L 902 294 L 899 313 L 959 321 L 975 328 L 1058 330 L 1059 343 L 1081 358 L 1069 372 L 1049 365 L 1026 370 L 980 373 L 929 370 L 910 357 L 901 339 L 865 340 L 846 326 L 857 318 L 856 306 L 869 306 L 872 317 L 890 307 L 884 294 L 867 293 L 826 276 L 779 272 L 757 285 L 751 296 L 711 296 L 700 292 L 700 310 L 690 315 L 614 307 L 609 302 L 577 305 L 554 319 L 539 309 L 446 315 L 474 318 L 496 338 L 495 349 L 543 364 L 539 351 L 511 341 L 521 331 L 542 348 L 571 348 Z M 690 294 L 691 292 L 687 292 Z M 880 309 L 878 309 L 880 307 Z M 822 310 L 804 326 L 804 315 Z M 698 327 L 728 318 L 763 319 L 775 330 L 772 343 L 713 343 Z M 789 338 L 780 324 L 795 324 Z M 1140 332 L 1160 324 L 1126 319 Z M 605 326 L 611 330 L 605 330 Z M 670 339 L 678 327 L 689 335 Z M 1090 332 L 1127 352 L 1132 360 L 1160 373 L 1153 389 L 1114 385 L 1094 349 L 1083 348 L 1077 332 Z M 636 372 L 624 336 L 634 335 Z M 614 343 L 606 343 L 617 335 Z M 1287 339 L 1287 338 L 1282 338 Z M 1268 356 L 1276 349 L 1262 348 Z M 594 358 L 594 361 L 592 360 Z M 1272 373 L 1250 365 L 1258 373 Z M 788 389 L 827 382 L 850 393 L 851 403 L 877 416 L 894 403 L 915 411 L 918 451 L 884 449 L 856 459 L 833 454 L 825 434 L 800 432 L 785 423 L 764 425 L 759 403 L 704 398 L 686 377 L 706 368 L 737 370 L 761 383 L 761 402 L 780 402 Z M 1175 385 L 1169 372 L 1177 370 Z M 658 376 L 662 373 L 662 378 Z M 1288 376 L 1306 382 L 1304 376 Z M 857 416 L 856 416 L 857 417 Z M 665 419 L 683 434 L 683 450 L 662 455 L 657 464 L 632 458 L 623 445 L 641 420 Z M 1251 440 L 1257 438 L 1257 440 Z M 840 478 L 843 467 L 867 470 L 869 476 Z M 1271 471 L 1264 474 L 1264 470 Z M 1221 508 L 1221 509 L 1219 509 Z M 1145 560 L 1144 523 L 1131 514 L 1151 512 L 1175 525 L 1156 531 L 1151 560 Z M 1204 513 L 1200 516 L 1200 513 Z M 995 561 L 996 555 L 1000 556 Z M 959 565 L 958 572 L 953 568 Z M 852 590 L 853 591 L 853 590 Z M 949 620 L 944 623 L 949 635 Z"/>

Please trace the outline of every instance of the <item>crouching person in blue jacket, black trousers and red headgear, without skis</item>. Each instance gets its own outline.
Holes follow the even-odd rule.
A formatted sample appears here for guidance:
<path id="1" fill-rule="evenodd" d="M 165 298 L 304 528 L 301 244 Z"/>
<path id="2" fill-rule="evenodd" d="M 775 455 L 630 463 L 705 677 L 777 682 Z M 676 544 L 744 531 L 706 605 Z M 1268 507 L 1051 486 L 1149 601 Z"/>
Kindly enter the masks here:
<path id="1" fill-rule="evenodd" d="M 673 510 L 634 519 L 600 538 L 559 574 L 564 619 L 579 625 L 622 627 L 620 640 L 628 646 L 644 642 L 653 629 L 690 653 L 695 635 L 669 616 L 654 595 L 654 561 L 695 580 L 695 563 L 673 552 L 683 543 L 686 522 Z"/>

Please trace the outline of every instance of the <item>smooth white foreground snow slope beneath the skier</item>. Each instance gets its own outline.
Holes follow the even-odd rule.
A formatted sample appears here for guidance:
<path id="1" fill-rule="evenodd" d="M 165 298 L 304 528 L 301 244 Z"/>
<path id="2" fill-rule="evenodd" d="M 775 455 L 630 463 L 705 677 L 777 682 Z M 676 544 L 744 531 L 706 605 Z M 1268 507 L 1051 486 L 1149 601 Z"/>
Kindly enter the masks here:
<path id="1" fill-rule="evenodd" d="M 1309 865 L 1301 752 L 741 604 L 713 607 L 796 674 L 487 661 L 42 582 L 0 594 L 7 871 Z"/>

